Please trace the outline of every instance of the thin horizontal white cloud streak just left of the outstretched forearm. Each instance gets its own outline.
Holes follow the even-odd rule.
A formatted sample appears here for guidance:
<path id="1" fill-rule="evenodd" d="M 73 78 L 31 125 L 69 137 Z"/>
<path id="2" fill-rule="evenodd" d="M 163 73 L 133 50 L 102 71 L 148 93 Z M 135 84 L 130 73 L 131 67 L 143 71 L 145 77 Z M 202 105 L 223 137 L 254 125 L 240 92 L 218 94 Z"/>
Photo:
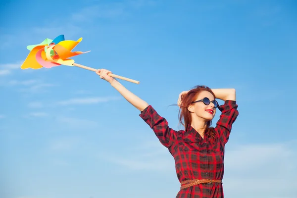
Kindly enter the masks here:
<path id="1" fill-rule="evenodd" d="M 68 99 L 57 102 L 60 105 L 71 105 L 71 104 L 94 104 L 99 102 L 108 102 L 112 100 L 119 100 L 119 97 L 96 97 L 96 98 L 76 98 Z"/>

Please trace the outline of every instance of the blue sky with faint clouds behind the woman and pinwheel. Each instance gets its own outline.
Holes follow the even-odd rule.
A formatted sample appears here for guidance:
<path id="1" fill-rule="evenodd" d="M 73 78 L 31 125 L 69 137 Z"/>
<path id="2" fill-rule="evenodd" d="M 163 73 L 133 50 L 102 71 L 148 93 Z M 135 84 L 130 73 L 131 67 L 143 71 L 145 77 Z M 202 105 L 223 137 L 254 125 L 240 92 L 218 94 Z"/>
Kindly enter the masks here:
<path id="1" fill-rule="evenodd" d="M 225 196 L 297 194 L 296 1 L 14 0 L 0 9 L 1 198 L 173 198 L 179 190 L 170 153 L 94 72 L 20 69 L 26 46 L 60 34 L 83 37 L 75 50 L 91 50 L 76 63 L 139 80 L 121 82 L 174 129 L 182 127 L 170 105 L 180 92 L 235 88 Z"/>

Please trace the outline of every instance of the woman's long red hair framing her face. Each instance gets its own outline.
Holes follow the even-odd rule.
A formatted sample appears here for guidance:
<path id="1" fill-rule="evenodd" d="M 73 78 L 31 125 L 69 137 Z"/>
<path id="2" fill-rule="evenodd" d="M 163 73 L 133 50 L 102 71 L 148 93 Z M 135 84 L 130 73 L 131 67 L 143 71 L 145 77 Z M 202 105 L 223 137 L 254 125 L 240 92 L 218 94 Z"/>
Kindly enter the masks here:
<path id="1" fill-rule="evenodd" d="M 180 110 L 179 110 L 179 121 L 185 128 L 187 127 L 187 125 L 191 125 L 191 123 L 192 123 L 192 117 L 191 117 L 190 111 L 188 110 L 188 107 L 191 105 L 192 102 L 195 101 L 198 94 L 202 91 L 210 92 L 213 95 L 213 97 L 215 98 L 215 95 L 211 91 L 211 89 L 208 88 L 207 86 L 203 86 L 203 85 L 198 85 L 198 86 L 194 87 L 187 94 L 182 96 L 182 101 L 181 101 Z M 183 120 L 184 120 L 184 123 L 183 123 Z M 213 127 L 210 127 L 211 124 L 212 124 L 211 120 L 207 121 L 204 135 L 208 135 L 208 136 L 214 138 L 215 133 L 212 130 Z"/>

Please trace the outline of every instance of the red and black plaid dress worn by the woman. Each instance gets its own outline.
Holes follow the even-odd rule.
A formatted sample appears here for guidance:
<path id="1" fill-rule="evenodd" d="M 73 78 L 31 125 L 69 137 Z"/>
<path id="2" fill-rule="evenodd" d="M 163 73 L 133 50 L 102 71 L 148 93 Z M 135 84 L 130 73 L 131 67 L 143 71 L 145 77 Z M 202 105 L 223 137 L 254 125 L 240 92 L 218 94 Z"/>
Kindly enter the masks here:
<path id="1" fill-rule="evenodd" d="M 168 148 L 175 160 L 180 182 L 193 179 L 222 180 L 224 175 L 224 151 L 232 124 L 239 115 L 236 101 L 226 100 L 218 109 L 220 118 L 214 128 L 215 138 L 204 139 L 190 125 L 186 130 L 175 131 L 165 118 L 149 105 L 140 117 L 153 130 L 160 143 Z M 182 189 L 176 198 L 224 198 L 222 183 L 198 184 Z"/>

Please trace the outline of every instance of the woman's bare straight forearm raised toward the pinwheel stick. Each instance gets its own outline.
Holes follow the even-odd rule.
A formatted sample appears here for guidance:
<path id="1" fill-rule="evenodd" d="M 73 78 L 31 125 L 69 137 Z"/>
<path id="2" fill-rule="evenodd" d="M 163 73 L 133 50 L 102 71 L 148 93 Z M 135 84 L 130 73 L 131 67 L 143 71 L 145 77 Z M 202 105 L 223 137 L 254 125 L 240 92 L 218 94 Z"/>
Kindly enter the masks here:
<path id="1" fill-rule="evenodd" d="M 135 106 L 140 111 L 143 111 L 145 108 L 148 107 L 148 103 L 143 99 L 140 99 L 132 92 L 127 90 L 121 83 L 117 80 L 113 80 L 110 85 L 115 88 L 128 102 L 130 102 L 133 106 Z"/>

